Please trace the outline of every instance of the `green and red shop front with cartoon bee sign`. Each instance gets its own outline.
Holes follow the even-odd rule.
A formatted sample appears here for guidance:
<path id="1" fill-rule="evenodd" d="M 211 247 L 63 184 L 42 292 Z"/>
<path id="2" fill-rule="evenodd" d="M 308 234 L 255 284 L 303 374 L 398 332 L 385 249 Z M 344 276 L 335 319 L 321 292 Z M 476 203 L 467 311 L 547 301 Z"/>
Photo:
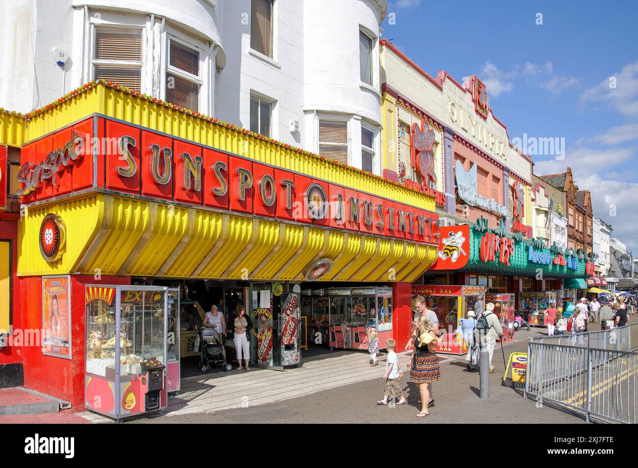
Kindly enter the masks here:
<path id="1" fill-rule="evenodd" d="M 433 301 L 432 305 L 437 308 L 439 325 L 446 324 L 450 338 L 456 337 L 459 353 L 463 341 L 457 320 L 466 318 L 470 310 L 463 306 L 466 287 L 484 289 L 484 302 L 475 303 L 471 310 L 478 315 L 484 304 L 493 303 L 503 327 L 503 339 L 508 340 L 514 336 L 516 312 L 530 325 L 543 325 L 542 313 L 549 303 L 558 307 L 563 303 L 563 281 L 582 280 L 592 265 L 574 252 L 555 245 L 547 248 L 538 239 L 523 239 L 520 233 L 508 234 L 502 223 L 500 229 L 491 229 L 482 218 L 474 225 L 440 230 L 438 259 L 420 278 L 421 284 L 413 285 L 413 290 L 451 292 L 454 299 L 448 303 Z"/>

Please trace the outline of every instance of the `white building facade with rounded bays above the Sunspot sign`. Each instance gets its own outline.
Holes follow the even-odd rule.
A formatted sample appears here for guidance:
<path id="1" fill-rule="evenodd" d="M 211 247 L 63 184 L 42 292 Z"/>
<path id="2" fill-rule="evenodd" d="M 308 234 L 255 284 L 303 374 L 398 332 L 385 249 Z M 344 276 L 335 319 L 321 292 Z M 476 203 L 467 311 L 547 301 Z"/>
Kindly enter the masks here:
<path id="1" fill-rule="evenodd" d="M 0 107 L 106 79 L 381 174 L 387 0 L 0 4 Z"/>

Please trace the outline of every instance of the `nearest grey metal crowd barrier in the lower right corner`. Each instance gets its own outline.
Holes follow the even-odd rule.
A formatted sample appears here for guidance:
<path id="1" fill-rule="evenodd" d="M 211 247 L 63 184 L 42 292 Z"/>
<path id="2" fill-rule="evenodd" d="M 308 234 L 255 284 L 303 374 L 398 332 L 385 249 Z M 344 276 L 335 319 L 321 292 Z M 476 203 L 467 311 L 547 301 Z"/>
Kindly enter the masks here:
<path id="1" fill-rule="evenodd" d="M 638 324 L 531 338 L 525 394 L 607 422 L 636 422 Z"/>

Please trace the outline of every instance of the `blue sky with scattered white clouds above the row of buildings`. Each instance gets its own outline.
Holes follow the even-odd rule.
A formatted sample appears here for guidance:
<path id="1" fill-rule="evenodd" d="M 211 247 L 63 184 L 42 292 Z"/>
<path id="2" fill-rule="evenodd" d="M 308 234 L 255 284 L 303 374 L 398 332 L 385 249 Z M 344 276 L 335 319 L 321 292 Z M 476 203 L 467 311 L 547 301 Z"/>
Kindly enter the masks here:
<path id="1" fill-rule="evenodd" d="M 532 155 L 535 173 L 572 167 L 638 257 L 638 2 L 389 0 L 389 12 L 383 37 L 427 73 L 484 80 L 510 139 L 564 138 L 565 159 Z"/>

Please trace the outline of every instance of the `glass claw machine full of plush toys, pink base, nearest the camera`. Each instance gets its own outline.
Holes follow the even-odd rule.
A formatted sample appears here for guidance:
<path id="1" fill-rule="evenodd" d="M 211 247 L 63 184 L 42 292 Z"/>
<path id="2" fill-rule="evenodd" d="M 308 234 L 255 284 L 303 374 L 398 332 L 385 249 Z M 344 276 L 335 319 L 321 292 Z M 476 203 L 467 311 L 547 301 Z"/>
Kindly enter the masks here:
<path id="1" fill-rule="evenodd" d="M 87 409 L 119 421 L 167 407 L 169 296 L 167 287 L 86 286 Z"/>

